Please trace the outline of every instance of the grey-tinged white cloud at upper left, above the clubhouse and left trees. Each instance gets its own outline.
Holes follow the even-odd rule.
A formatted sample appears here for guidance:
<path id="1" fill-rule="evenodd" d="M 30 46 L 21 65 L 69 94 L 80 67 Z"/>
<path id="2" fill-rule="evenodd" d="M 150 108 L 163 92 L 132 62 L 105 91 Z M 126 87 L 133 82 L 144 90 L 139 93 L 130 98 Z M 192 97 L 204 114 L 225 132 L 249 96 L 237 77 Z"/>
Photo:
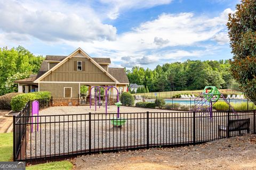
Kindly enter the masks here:
<path id="1" fill-rule="evenodd" d="M 68 11 L 65 13 L 61 9 L 50 11 L 45 5 L 32 8 L 26 2 L 0 1 L 0 6 L 0 29 L 6 33 L 30 35 L 45 41 L 111 41 L 116 38 L 116 28 L 103 24 L 97 16 L 90 18 L 90 15 Z M 71 8 L 75 10 L 76 6 Z"/>

